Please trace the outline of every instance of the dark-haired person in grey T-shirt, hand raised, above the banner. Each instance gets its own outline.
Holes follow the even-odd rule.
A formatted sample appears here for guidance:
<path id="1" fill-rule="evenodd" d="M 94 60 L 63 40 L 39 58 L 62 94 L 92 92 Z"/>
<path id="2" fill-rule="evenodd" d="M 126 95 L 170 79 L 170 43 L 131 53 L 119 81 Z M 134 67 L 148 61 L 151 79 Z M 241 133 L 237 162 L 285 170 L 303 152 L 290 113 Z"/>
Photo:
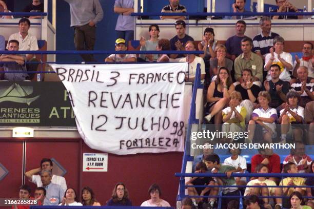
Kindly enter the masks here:
<path id="1" fill-rule="evenodd" d="M 141 51 L 155 51 L 158 45 L 159 37 L 159 26 L 156 24 L 150 25 L 148 28 L 149 40 L 145 40 L 142 36 L 140 38 Z M 139 57 L 145 61 L 156 61 L 158 54 L 140 54 Z"/>

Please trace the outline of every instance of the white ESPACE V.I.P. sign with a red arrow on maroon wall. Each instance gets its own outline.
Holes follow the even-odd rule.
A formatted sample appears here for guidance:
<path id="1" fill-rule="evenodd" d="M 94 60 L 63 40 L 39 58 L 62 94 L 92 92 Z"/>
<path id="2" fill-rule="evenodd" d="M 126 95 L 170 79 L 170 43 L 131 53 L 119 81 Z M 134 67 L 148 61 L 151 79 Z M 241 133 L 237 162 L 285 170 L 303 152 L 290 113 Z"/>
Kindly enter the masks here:
<path id="1" fill-rule="evenodd" d="M 107 153 L 83 153 L 83 171 L 87 172 L 107 172 Z"/>

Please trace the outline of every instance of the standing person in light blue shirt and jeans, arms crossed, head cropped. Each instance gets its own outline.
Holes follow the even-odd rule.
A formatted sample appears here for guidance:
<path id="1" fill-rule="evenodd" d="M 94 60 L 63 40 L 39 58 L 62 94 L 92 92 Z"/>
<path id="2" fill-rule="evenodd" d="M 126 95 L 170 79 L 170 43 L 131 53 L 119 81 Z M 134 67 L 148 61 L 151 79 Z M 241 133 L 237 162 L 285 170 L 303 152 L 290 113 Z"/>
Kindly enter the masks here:
<path id="1" fill-rule="evenodd" d="M 129 40 L 134 39 L 135 17 L 130 15 L 134 12 L 134 0 L 115 0 L 113 11 L 119 14 L 115 25 L 116 37 L 125 39 L 128 46 Z"/>

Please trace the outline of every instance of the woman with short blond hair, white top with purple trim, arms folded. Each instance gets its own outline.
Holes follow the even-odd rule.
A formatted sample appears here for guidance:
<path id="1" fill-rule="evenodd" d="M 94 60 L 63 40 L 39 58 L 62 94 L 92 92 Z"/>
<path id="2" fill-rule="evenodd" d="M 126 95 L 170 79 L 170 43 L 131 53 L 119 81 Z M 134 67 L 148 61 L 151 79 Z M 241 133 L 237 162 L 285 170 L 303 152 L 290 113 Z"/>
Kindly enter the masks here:
<path id="1" fill-rule="evenodd" d="M 253 110 L 252 119 L 249 121 L 248 125 L 248 138 L 245 139 L 246 143 L 251 143 L 254 133 L 256 131 L 256 124 L 258 124 L 258 129 L 262 128 L 263 140 L 272 142 L 272 139 L 277 136 L 276 133 L 276 120 L 277 111 L 274 108 L 269 107 L 269 102 L 271 101 L 270 95 L 267 91 L 261 91 L 258 97 L 260 106 L 259 108 Z M 253 170 L 254 171 L 254 170 Z"/>

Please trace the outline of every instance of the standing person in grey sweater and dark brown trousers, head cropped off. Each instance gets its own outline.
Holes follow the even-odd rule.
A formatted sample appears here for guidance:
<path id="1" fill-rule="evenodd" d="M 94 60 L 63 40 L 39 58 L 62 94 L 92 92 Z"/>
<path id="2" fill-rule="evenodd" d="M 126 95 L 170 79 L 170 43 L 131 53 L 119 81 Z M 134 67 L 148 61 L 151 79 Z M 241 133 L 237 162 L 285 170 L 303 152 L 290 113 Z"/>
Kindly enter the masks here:
<path id="1" fill-rule="evenodd" d="M 64 0 L 70 5 L 71 27 L 74 28 L 76 50 L 94 50 L 96 25 L 104 12 L 99 0 Z M 93 54 L 81 54 L 84 61 L 95 61 Z"/>

